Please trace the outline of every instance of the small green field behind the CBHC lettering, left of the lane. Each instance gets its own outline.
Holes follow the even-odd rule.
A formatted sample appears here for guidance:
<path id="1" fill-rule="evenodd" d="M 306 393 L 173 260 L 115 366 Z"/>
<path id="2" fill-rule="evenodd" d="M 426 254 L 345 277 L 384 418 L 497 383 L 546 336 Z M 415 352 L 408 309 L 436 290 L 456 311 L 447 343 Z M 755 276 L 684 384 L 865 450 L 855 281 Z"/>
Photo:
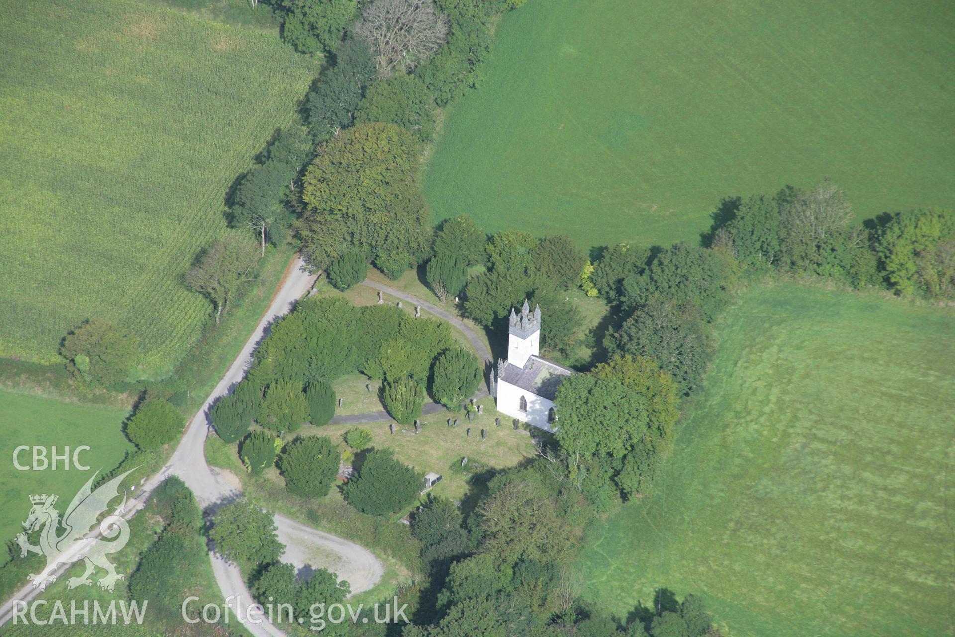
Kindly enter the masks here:
<path id="1" fill-rule="evenodd" d="M 0 541 L 11 540 L 22 531 L 22 520 L 30 512 L 32 494 L 55 493 L 69 502 L 83 484 L 100 469 L 113 470 L 133 445 L 122 434 L 122 421 L 128 410 L 105 405 L 82 405 L 44 396 L 0 390 Z M 79 459 L 89 471 L 71 468 L 64 471 L 19 471 L 13 466 L 13 451 L 21 446 L 46 447 L 48 457 L 53 446 L 62 454 L 69 446 L 90 447 Z M 31 452 L 19 456 L 21 465 L 32 464 Z"/>

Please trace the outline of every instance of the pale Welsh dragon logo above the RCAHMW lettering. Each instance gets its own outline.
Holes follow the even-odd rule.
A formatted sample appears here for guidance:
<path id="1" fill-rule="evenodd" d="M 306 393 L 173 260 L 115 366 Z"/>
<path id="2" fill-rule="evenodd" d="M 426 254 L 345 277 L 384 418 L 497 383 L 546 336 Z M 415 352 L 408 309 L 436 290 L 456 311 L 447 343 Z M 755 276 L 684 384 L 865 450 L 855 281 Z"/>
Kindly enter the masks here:
<path id="1" fill-rule="evenodd" d="M 113 592 L 117 581 L 126 579 L 124 575 L 117 573 L 116 565 L 106 559 L 106 556 L 111 553 L 122 550 L 129 541 L 129 524 L 119 515 L 126 505 L 125 492 L 122 503 L 117 509 L 99 521 L 99 534 L 102 537 L 89 536 L 90 529 L 96 524 L 100 514 L 109 508 L 110 500 L 119 496 L 119 483 L 131 471 L 133 470 L 111 479 L 96 491 L 92 491 L 91 486 L 96 478 L 94 474 L 76 493 L 73 501 L 66 508 L 62 520 L 60 520 L 59 512 L 53 508 L 57 496 L 43 494 L 30 497 L 33 506 L 27 521 L 23 522 L 26 531 L 16 536 L 16 543 L 20 545 L 21 558 L 27 557 L 28 553 L 42 554 L 47 557 L 47 565 L 42 571 L 27 576 L 27 579 L 32 581 L 33 588 L 39 586 L 40 590 L 45 590 L 47 585 L 56 581 L 53 571 L 57 566 L 79 560 L 86 563 L 86 570 L 81 576 L 70 578 L 67 581 L 68 588 L 93 584 L 90 576 L 96 570 L 96 566 L 106 570 L 106 576 L 98 582 L 99 587 L 104 590 Z M 40 527 L 43 527 L 40 532 L 40 545 L 34 546 L 30 543 L 28 534 Z"/>

